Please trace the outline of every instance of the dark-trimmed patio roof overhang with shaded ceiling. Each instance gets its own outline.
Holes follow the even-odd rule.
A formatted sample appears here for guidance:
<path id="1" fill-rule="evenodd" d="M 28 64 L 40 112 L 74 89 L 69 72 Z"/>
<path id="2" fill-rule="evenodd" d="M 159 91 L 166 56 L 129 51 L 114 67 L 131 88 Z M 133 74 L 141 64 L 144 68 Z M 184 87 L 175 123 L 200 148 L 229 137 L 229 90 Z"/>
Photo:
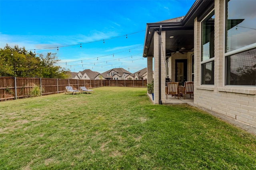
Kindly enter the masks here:
<path id="1" fill-rule="evenodd" d="M 154 57 L 153 37 L 155 32 L 166 31 L 166 56 L 171 56 L 177 48 L 182 52 L 194 49 L 194 18 L 202 16 L 214 8 L 214 0 L 196 0 L 186 16 L 172 20 L 146 24 L 143 57 Z M 201 16 L 201 17 L 200 17 Z M 171 37 L 172 36 L 172 37 Z"/>

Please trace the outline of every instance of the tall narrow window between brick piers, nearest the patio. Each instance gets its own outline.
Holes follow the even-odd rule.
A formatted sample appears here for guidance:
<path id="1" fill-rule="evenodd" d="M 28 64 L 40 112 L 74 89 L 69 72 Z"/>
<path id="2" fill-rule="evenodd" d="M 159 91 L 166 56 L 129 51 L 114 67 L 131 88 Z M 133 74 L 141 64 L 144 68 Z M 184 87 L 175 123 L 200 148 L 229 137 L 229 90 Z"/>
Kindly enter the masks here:
<path id="1" fill-rule="evenodd" d="M 201 84 L 214 84 L 214 11 L 202 21 Z"/>

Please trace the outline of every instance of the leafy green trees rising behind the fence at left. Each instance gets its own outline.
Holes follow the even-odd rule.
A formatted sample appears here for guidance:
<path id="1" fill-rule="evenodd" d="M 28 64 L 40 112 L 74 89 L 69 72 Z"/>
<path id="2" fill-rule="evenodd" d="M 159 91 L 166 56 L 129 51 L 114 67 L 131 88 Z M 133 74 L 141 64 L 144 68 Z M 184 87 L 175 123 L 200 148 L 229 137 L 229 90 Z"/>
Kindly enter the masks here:
<path id="1" fill-rule="evenodd" d="M 67 78 L 64 69 L 56 66 L 58 61 L 56 53 L 36 57 L 36 53 L 28 52 L 25 47 L 11 48 L 6 44 L 4 49 L 0 48 L 0 76 Z"/>

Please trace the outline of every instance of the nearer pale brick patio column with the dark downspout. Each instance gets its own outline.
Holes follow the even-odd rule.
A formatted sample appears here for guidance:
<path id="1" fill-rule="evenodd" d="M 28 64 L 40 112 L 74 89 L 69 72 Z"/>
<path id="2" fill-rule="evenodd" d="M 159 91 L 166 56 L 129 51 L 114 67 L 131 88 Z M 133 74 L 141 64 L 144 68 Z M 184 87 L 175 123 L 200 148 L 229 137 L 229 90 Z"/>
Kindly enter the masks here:
<path id="1" fill-rule="evenodd" d="M 161 38 L 157 32 L 154 33 L 154 103 L 158 104 L 161 100 L 162 103 L 166 102 L 165 98 L 165 53 L 166 53 L 166 32 L 161 31 Z M 159 54 L 161 55 L 159 57 Z M 159 61 L 160 60 L 160 61 Z M 160 64 L 159 64 L 160 62 Z M 160 83 L 159 83 L 159 80 Z M 160 95 L 159 95 L 160 91 Z M 159 98 L 159 96 L 161 98 Z"/>

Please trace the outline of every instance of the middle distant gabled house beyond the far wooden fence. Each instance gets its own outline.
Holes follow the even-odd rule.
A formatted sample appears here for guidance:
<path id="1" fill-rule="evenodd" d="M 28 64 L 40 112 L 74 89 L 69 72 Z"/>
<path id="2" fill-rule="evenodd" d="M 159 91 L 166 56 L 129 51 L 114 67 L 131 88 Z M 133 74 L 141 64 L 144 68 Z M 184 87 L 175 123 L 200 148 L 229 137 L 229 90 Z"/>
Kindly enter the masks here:
<path id="1" fill-rule="evenodd" d="M 124 68 L 113 68 L 103 72 L 101 75 L 105 78 L 105 80 L 124 80 L 128 74 L 132 73 Z"/>

